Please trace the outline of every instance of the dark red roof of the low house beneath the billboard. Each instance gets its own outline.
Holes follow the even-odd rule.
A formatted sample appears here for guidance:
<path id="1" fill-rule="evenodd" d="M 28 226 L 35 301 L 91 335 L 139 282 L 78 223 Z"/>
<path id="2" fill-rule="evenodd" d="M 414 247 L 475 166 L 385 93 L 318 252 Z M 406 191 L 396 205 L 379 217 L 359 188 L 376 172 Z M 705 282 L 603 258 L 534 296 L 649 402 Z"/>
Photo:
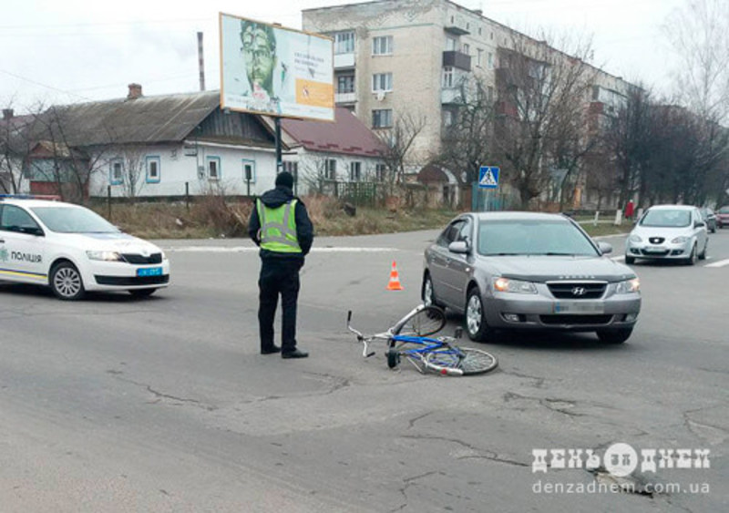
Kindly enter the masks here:
<path id="1" fill-rule="evenodd" d="M 303 148 L 310 151 L 328 151 L 376 157 L 384 152 L 385 145 L 364 126 L 352 112 L 338 107 L 334 123 L 282 118 L 281 127 Z"/>

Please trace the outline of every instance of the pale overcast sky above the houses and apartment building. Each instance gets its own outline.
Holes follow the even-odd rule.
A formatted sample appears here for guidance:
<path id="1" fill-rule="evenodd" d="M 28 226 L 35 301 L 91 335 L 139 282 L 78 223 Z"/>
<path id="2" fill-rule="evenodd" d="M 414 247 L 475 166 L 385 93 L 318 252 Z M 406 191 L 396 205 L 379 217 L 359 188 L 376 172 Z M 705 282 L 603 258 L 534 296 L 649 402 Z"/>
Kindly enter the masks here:
<path id="1" fill-rule="evenodd" d="M 686 0 L 462 0 L 529 35 L 540 28 L 593 36 L 594 64 L 667 91 L 675 56 L 661 26 Z M 220 82 L 218 13 L 301 28 L 303 8 L 341 0 L 3 0 L 0 105 L 22 113 L 43 102 L 199 89 L 197 33 L 204 33 L 206 88 Z"/>

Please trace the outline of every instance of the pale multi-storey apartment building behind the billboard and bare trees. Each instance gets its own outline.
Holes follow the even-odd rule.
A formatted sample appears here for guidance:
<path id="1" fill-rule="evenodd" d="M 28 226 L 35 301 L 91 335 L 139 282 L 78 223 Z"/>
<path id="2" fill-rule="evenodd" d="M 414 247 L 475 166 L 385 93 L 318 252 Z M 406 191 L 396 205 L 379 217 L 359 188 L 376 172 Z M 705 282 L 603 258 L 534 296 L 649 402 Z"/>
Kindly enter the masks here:
<path id="1" fill-rule="evenodd" d="M 404 116 L 425 122 L 408 162 L 412 172 L 440 152 L 444 130 L 462 104 L 464 83 L 477 79 L 497 102 L 498 69 L 515 41 L 546 45 L 449 0 L 378 0 L 306 9 L 303 29 L 334 37 L 338 107 L 353 110 L 375 131 L 393 128 Z M 593 71 L 585 106 L 595 116 L 609 116 L 631 86 Z M 466 185 L 463 169 L 443 171 L 451 183 Z"/>

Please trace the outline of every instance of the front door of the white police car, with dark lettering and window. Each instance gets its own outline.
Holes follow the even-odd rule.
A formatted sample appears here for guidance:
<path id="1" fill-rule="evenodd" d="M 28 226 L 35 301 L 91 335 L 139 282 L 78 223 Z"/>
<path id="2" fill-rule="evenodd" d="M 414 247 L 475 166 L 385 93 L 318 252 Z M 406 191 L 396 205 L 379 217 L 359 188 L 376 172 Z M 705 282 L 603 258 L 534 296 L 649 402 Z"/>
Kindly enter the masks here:
<path id="1" fill-rule="evenodd" d="M 46 282 L 45 234 L 31 215 L 15 205 L 0 205 L 0 278 Z"/>

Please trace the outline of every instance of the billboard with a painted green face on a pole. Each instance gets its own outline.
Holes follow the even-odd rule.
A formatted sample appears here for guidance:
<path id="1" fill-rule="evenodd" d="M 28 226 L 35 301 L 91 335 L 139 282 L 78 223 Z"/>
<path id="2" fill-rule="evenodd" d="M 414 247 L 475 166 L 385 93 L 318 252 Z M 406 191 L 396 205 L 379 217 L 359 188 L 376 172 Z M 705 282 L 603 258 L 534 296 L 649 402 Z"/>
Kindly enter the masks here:
<path id="1" fill-rule="evenodd" d="M 221 108 L 334 121 L 330 37 L 220 14 Z"/>

